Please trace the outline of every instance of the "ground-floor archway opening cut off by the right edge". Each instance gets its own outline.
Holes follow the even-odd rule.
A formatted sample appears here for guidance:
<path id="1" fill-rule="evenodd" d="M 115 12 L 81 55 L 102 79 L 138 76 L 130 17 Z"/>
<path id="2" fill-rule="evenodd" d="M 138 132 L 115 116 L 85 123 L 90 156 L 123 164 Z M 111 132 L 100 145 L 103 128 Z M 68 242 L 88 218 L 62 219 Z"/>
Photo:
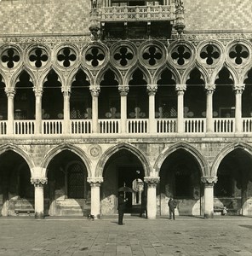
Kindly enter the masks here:
<path id="1" fill-rule="evenodd" d="M 236 148 L 221 160 L 215 184 L 214 207 L 228 215 L 252 215 L 252 155 Z M 217 214 L 217 213 L 216 213 Z"/>

